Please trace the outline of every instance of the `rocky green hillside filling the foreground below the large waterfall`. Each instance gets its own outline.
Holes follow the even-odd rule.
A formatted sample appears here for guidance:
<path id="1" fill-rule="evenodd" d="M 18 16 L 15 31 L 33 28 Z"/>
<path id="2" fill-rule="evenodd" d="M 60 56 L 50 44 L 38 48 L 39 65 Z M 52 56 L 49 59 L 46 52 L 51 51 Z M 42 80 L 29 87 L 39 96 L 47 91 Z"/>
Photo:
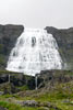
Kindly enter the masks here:
<path id="1" fill-rule="evenodd" d="M 13 84 L 20 80 L 14 77 L 11 82 L 0 84 L 0 110 L 73 110 L 72 72 L 41 73 L 37 90 L 33 88 L 34 78 L 26 76 L 22 86 Z"/>

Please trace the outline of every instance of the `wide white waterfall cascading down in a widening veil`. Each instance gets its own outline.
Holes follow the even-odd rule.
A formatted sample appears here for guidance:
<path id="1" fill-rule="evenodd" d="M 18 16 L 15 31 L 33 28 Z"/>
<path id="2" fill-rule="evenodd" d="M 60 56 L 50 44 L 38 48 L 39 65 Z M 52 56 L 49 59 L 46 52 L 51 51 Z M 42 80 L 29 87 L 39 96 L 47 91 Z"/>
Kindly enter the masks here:
<path id="1" fill-rule="evenodd" d="M 25 29 L 11 51 L 7 69 L 35 76 L 40 70 L 61 69 L 58 44 L 46 30 Z"/>

